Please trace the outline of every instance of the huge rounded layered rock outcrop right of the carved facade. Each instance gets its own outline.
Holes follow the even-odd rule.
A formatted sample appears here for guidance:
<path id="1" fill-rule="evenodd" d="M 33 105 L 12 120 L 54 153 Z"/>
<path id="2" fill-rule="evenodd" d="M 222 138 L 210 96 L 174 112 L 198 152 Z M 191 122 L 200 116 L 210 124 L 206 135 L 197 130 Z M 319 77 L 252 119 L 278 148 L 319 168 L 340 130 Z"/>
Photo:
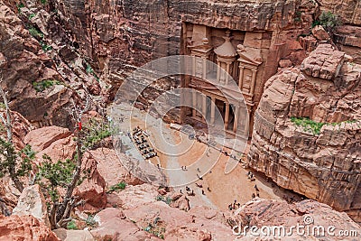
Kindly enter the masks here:
<path id="1" fill-rule="evenodd" d="M 360 65 L 344 61 L 344 52 L 321 44 L 300 69 L 269 79 L 255 112 L 248 159 L 280 186 L 356 220 L 361 219 L 360 72 Z"/>

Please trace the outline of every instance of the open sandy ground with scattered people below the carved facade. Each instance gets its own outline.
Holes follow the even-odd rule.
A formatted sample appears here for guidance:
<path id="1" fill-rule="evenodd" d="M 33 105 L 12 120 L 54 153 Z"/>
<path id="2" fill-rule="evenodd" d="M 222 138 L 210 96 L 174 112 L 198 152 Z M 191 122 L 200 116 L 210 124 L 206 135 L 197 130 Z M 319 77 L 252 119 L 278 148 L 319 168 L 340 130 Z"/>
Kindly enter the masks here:
<path id="1" fill-rule="evenodd" d="M 187 186 L 194 191 L 195 196 L 189 196 L 191 207 L 204 205 L 225 210 L 235 200 L 242 205 L 256 193 L 255 185 L 263 199 L 301 199 L 297 194 L 279 188 L 260 173 L 254 172 L 255 181 L 250 181 L 247 172 L 251 170 L 246 170 L 241 164 L 237 164 L 233 171 L 225 174 L 228 156 L 207 144 L 190 140 L 188 135 L 172 130 L 168 124 L 145 124 L 142 115 L 134 115 L 131 124 L 133 127 L 140 126 L 150 134 L 149 141 L 159 157 L 150 161 L 154 164 L 160 163 L 162 168 L 166 168 L 162 171 L 175 190 L 186 193 Z M 187 166 L 188 171 L 182 171 L 181 166 Z M 202 180 L 199 180 L 198 175 Z M 196 183 L 202 185 L 202 188 Z"/>

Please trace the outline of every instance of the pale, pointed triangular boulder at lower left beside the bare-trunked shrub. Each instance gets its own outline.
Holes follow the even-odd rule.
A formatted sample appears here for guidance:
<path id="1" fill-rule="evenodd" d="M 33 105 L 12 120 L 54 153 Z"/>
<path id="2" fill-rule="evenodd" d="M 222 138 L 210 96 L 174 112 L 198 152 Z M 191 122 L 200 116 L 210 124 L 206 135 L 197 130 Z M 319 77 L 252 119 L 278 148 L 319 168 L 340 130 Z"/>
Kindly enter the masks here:
<path id="1" fill-rule="evenodd" d="M 32 215 L 47 227 L 51 227 L 46 202 L 38 184 L 26 187 L 23 190 L 16 207 L 13 209 L 13 215 Z"/>

